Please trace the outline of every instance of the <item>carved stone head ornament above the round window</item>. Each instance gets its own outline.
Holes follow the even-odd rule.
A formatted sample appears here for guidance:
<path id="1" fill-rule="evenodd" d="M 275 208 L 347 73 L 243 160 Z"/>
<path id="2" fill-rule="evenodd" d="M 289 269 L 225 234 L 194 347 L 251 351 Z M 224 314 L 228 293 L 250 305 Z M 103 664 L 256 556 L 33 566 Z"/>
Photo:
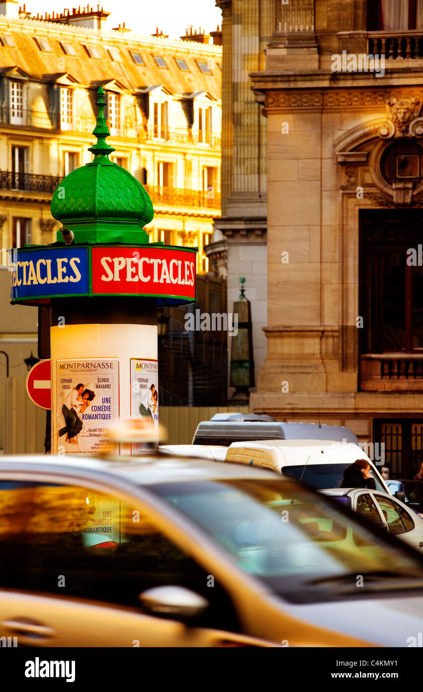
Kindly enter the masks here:
<path id="1" fill-rule="evenodd" d="M 420 118 L 422 101 L 418 96 L 397 99 L 395 96 L 386 100 L 388 119 L 379 128 L 381 139 L 397 137 L 423 137 L 423 118 Z"/>

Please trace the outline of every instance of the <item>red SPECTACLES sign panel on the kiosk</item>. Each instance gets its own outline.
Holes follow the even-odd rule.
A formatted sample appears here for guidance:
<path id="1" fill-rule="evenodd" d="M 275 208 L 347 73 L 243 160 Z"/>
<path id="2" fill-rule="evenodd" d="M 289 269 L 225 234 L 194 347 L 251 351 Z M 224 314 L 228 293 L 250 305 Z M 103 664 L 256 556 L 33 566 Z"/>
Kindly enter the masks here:
<path id="1" fill-rule="evenodd" d="M 93 248 L 93 293 L 196 299 L 196 253 L 175 248 Z"/>

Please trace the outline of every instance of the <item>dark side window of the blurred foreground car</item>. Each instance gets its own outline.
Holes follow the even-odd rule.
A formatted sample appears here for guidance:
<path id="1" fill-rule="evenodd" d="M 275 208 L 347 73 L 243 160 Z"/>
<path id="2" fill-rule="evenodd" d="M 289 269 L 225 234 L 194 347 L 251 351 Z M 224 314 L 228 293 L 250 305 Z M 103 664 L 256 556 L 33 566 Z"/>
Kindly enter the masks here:
<path id="1" fill-rule="evenodd" d="M 183 586 L 210 603 L 193 624 L 240 630 L 213 575 L 139 508 L 95 489 L 0 481 L 0 555 L 0 588 L 140 608 L 145 590 Z"/>

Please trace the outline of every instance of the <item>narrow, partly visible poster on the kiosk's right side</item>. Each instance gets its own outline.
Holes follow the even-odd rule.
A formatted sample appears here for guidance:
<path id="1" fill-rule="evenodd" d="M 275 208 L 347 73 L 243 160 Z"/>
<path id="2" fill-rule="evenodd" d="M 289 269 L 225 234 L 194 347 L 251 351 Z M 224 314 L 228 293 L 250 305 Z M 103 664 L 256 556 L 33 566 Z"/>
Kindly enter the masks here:
<path id="1" fill-rule="evenodd" d="M 132 454 L 158 449 L 158 362 L 131 358 L 131 417 L 151 423 L 152 444 L 133 444 Z"/>

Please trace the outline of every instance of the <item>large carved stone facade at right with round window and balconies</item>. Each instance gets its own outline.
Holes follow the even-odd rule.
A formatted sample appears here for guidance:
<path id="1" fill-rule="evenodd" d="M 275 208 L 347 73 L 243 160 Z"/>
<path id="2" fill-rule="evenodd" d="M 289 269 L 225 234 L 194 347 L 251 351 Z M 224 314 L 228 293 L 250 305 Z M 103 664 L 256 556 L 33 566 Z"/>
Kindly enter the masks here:
<path id="1" fill-rule="evenodd" d="M 250 408 L 346 425 L 384 444 L 394 477 L 414 475 L 422 3 L 272 4 L 265 67 L 250 72 L 267 118 L 267 355 Z"/>

